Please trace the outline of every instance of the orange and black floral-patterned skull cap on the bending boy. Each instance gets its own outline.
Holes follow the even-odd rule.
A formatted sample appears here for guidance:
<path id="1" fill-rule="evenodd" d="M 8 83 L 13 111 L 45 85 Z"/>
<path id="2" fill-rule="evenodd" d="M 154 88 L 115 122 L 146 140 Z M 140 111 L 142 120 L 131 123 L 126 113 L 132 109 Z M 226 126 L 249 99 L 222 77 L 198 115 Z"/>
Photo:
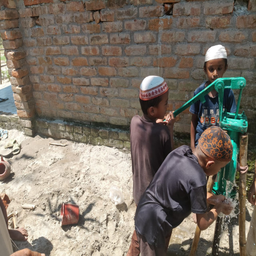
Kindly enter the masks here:
<path id="1" fill-rule="evenodd" d="M 210 126 L 201 135 L 198 145 L 206 156 L 229 162 L 233 155 L 230 137 L 218 126 Z"/>

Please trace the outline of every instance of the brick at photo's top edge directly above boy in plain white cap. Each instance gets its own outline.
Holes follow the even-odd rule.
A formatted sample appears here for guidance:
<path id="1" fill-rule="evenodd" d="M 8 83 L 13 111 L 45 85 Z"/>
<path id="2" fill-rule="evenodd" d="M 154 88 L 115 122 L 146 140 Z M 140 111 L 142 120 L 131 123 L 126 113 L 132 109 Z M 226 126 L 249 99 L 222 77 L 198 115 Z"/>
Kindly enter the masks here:
<path id="1" fill-rule="evenodd" d="M 228 14 L 234 10 L 234 0 L 226 0 L 218 3 L 215 6 L 212 3 L 204 2 L 204 14 L 205 15 L 216 15 L 216 14 Z"/>

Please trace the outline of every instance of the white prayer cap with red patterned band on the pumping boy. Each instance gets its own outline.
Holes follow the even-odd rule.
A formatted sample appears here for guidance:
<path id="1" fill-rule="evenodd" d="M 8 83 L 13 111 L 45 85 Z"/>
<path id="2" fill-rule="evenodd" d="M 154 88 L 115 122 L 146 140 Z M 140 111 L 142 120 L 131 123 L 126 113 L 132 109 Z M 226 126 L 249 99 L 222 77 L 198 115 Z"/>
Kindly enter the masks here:
<path id="1" fill-rule="evenodd" d="M 168 91 L 164 78 L 160 76 L 147 76 L 140 84 L 140 99 L 151 100 Z"/>

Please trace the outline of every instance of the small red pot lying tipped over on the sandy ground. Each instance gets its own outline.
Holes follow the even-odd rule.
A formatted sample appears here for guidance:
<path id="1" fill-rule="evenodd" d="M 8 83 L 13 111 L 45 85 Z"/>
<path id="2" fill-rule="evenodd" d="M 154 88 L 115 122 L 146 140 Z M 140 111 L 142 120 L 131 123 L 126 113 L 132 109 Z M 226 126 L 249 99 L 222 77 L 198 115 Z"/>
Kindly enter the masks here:
<path id="1" fill-rule="evenodd" d="M 61 205 L 61 226 L 76 224 L 79 220 L 79 206 L 77 204 L 65 204 Z"/>

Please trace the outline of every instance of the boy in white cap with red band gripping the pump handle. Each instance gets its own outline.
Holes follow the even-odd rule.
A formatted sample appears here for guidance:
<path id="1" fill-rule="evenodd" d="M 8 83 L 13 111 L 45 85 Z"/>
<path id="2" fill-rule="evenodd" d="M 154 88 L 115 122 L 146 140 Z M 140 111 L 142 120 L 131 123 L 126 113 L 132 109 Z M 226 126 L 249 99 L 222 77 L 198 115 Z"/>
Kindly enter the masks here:
<path id="1" fill-rule="evenodd" d="M 133 116 L 130 125 L 133 199 L 136 205 L 165 157 L 173 149 L 173 113 L 165 117 L 168 91 L 166 82 L 160 76 L 147 76 L 140 84 L 143 116 Z M 161 121 L 164 117 L 166 121 Z M 127 255 L 139 254 L 134 230 Z"/>

